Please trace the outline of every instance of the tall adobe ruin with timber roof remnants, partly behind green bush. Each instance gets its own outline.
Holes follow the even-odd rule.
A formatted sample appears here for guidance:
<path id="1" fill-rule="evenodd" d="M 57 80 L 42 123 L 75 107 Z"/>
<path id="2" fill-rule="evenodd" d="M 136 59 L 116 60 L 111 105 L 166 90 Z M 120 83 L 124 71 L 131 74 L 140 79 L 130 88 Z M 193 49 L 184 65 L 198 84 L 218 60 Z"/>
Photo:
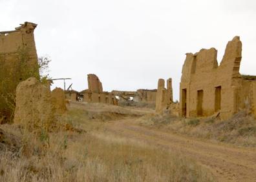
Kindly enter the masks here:
<path id="1" fill-rule="evenodd" d="M 10 121 L 16 87 L 29 77 L 39 79 L 34 29 L 25 22 L 16 30 L 0 32 L 0 116 Z"/>

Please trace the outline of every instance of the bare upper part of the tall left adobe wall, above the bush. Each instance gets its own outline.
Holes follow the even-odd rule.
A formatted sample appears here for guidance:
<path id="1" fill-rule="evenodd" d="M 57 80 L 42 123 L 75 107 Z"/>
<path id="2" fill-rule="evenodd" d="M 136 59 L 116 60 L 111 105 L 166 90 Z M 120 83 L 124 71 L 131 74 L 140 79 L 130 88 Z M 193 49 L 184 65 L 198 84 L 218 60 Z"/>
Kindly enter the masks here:
<path id="1" fill-rule="evenodd" d="M 1 34 L 0 32 L 0 61 L 4 63 L 12 62 L 11 67 L 6 68 L 6 70 L 8 72 L 15 72 L 16 75 L 20 74 L 18 79 L 21 81 L 25 81 L 28 77 L 39 79 L 39 67 L 34 39 L 35 28 L 36 24 L 25 22 L 17 27 L 16 30 L 10 31 L 9 34 Z M 8 66 L 7 63 L 5 64 Z M 21 68 L 17 68 L 17 66 L 23 66 L 26 70 L 20 73 Z"/>

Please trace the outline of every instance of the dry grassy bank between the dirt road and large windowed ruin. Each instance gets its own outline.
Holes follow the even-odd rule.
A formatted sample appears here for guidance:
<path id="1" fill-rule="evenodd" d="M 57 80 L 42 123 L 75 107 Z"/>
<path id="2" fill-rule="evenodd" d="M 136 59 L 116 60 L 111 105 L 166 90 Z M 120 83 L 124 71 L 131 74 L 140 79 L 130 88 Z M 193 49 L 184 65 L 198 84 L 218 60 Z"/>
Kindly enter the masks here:
<path id="1" fill-rule="evenodd" d="M 171 130 L 191 137 L 200 137 L 244 147 L 256 147 L 256 121 L 248 112 L 241 111 L 226 121 L 213 119 L 184 119 L 169 113 L 145 116 L 141 125 Z"/>

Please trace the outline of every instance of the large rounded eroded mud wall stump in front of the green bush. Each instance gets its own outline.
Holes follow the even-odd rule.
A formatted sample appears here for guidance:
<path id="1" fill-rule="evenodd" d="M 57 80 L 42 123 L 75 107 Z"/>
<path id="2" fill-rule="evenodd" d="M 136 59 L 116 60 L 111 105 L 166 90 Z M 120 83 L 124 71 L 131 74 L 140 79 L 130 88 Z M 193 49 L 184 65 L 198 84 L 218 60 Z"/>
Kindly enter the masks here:
<path id="1" fill-rule="evenodd" d="M 48 130 L 54 122 L 51 92 L 36 78 L 19 83 L 16 89 L 14 123 L 28 130 Z"/>

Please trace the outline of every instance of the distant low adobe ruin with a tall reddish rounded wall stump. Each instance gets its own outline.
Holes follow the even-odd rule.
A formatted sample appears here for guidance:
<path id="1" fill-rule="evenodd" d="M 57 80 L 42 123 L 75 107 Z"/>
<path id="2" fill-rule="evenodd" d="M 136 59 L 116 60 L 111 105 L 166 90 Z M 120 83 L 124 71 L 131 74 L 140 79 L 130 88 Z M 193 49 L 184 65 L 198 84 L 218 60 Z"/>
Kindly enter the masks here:
<path id="1" fill-rule="evenodd" d="M 95 74 L 89 74 L 88 89 L 82 91 L 83 101 L 87 103 L 106 103 L 111 105 L 118 105 L 118 101 L 114 94 L 103 92 L 102 83 Z"/>

